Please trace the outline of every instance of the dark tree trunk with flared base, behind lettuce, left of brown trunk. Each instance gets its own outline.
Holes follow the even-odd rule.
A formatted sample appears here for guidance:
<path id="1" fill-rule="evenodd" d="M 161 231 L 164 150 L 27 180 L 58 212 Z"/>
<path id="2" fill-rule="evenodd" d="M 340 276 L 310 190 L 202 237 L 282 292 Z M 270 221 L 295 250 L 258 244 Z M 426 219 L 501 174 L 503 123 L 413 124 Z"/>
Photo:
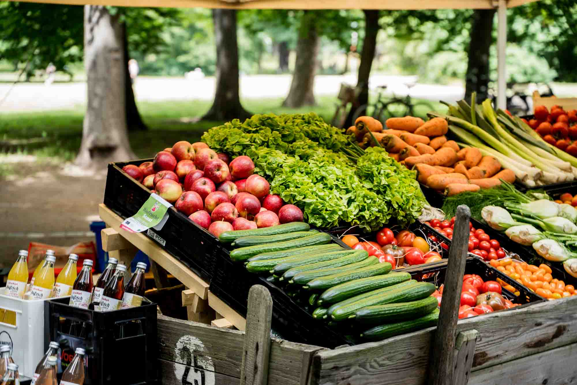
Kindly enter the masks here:
<path id="1" fill-rule="evenodd" d="M 246 119 L 250 113 L 238 95 L 237 11 L 213 9 L 216 41 L 216 94 L 203 120 Z"/>

